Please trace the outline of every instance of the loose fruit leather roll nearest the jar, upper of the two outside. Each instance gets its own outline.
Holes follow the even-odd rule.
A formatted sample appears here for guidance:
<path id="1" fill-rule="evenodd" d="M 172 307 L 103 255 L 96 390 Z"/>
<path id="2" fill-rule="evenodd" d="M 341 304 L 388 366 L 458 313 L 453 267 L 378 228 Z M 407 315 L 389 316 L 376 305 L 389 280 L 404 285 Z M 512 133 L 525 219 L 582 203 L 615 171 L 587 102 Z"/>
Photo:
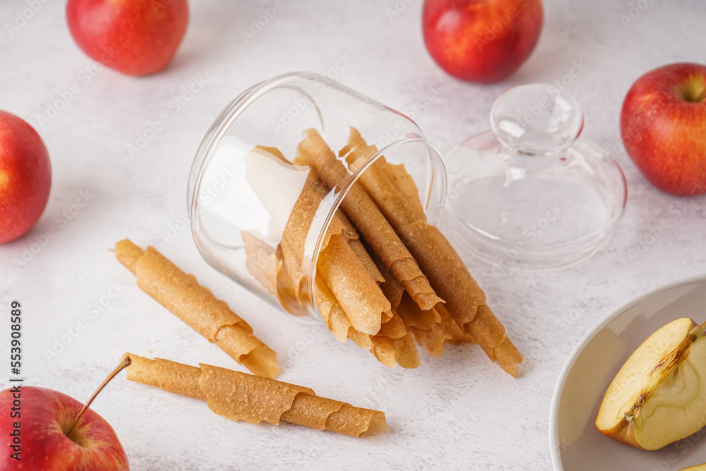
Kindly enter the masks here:
<path id="1" fill-rule="evenodd" d="M 253 335 L 253 328 L 225 301 L 179 270 L 153 247 L 146 251 L 124 239 L 115 244 L 115 256 L 137 276 L 145 293 L 189 324 L 209 342 L 254 374 L 274 378 L 280 367 L 277 354 Z"/>

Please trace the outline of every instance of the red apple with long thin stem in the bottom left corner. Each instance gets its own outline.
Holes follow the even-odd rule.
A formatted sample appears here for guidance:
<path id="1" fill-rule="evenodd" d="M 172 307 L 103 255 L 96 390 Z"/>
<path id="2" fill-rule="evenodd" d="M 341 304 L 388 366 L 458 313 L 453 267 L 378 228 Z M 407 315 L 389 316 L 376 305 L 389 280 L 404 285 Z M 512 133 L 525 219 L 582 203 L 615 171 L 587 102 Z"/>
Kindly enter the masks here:
<path id="1" fill-rule="evenodd" d="M 112 427 L 58 391 L 22 386 L 0 391 L 0 469 L 27 471 L 126 471 L 125 451 Z M 20 458 L 17 460 L 16 458 Z"/>

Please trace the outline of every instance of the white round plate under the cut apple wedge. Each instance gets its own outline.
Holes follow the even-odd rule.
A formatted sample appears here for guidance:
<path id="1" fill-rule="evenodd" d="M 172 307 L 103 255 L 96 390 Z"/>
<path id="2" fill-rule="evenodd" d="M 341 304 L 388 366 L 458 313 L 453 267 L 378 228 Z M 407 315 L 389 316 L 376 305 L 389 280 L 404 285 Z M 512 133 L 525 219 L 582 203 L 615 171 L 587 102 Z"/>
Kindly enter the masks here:
<path id="1" fill-rule="evenodd" d="M 564 365 L 549 413 L 549 445 L 555 470 L 676 471 L 706 463 L 706 429 L 645 451 L 602 435 L 598 407 L 618 369 L 664 324 L 681 317 L 706 321 L 706 277 L 660 288 L 621 306 L 599 322 Z"/>

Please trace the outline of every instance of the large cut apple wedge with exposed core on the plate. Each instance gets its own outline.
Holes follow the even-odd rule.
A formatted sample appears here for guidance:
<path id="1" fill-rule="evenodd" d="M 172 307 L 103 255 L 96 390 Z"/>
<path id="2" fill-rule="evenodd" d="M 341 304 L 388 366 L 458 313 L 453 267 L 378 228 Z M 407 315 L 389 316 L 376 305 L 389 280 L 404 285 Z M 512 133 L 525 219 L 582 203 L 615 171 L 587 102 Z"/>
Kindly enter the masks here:
<path id="1" fill-rule="evenodd" d="M 706 323 L 681 318 L 650 335 L 618 371 L 596 427 L 626 445 L 657 450 L 706 425 Z"/>

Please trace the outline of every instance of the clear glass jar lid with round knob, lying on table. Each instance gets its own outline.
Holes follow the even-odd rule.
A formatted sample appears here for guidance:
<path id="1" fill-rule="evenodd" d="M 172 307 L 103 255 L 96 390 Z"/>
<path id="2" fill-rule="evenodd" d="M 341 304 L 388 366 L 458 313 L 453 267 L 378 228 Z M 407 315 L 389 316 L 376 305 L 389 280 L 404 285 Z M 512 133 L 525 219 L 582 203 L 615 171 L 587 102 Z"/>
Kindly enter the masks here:
<path id="1" fill-rule="evenodd" d="M 445 159 L 443 224 L 472 256 L 515 270 L 551 270 L 599 251 L 623 214 L 626 182 L 599 145 L 580 138 L 578 102 L 546 84 L 498 97 L 491 131 Z"/>

